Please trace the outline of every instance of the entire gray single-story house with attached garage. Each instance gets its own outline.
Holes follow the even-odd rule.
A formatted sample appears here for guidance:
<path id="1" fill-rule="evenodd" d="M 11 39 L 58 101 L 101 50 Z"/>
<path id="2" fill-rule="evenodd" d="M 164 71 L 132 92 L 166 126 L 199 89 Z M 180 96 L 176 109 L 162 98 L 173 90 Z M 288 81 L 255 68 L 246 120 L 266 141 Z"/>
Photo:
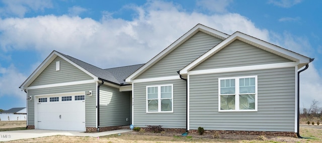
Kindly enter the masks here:
<path id="1" fill-rule="evenodd" d="M 198 24 L 144 65 L 100 69 L 53 51 L 20 88 L 29 98 L 28 128 L 102 131 L 133 124 L 195 132 L 201 126 L 295 136 L 299 74 L 312 61 Z"/>

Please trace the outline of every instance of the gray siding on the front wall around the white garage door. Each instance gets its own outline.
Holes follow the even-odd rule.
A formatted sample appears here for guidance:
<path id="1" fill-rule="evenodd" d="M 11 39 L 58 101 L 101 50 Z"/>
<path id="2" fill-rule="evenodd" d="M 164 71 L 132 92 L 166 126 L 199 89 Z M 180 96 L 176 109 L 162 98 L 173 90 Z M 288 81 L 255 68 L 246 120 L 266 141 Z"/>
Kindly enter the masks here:
<path id="1" fill-rule="evenodd" d="M 34 125 L 35 121 L 35 95 L 47 95 L 70 92 L 83 92 L 92 90 L 92 96 L 85 97 L 86 106 L 86 127 L 96 127 L 96 83 L 50 87 L 41 89 L 29 89 L 28 96 L 33 100 L 28 100 L 28 125 Z"/>

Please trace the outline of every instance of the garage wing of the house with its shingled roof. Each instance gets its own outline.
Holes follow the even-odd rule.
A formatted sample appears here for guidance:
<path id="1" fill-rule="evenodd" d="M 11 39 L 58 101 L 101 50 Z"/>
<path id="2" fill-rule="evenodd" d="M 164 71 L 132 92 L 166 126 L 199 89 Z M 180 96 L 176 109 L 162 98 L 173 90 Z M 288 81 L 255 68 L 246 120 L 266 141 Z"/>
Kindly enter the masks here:
<path id="1" fill-rule="evenodd" d="M 132 86 L 142 65 L 101 69 L 53 51 L 20 86 L 27 128 L 105 131 L 131 124 Z"/>

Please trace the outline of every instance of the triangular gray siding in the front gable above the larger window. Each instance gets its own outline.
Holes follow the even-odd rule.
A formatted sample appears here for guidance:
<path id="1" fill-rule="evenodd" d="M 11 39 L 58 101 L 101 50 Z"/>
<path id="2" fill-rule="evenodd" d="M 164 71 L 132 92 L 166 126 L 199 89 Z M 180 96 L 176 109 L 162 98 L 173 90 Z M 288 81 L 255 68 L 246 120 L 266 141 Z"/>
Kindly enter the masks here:
<path id="1" fill-rule="evenodd" d="M 291 62 L 270 52 L 235 40 L 193 70 L 218 69 L 262 64 Z"/>

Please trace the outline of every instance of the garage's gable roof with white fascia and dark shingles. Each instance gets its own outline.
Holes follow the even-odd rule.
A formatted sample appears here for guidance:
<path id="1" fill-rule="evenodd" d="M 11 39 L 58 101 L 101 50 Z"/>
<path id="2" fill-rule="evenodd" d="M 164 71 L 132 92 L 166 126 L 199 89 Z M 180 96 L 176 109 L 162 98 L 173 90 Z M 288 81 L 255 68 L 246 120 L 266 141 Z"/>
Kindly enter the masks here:
<path id="1" fill-rule="evenodd" d="M 53 51 L 19 88 L 25 89 L 28 87 L 57 56 L 92 76 L 94 80 L 104 80 L 117 85 L 125 85 L 126 83 L 124 79 L 143 65 L 140 64 L 111 69 L 101 69 L 71 56 Z"/>

